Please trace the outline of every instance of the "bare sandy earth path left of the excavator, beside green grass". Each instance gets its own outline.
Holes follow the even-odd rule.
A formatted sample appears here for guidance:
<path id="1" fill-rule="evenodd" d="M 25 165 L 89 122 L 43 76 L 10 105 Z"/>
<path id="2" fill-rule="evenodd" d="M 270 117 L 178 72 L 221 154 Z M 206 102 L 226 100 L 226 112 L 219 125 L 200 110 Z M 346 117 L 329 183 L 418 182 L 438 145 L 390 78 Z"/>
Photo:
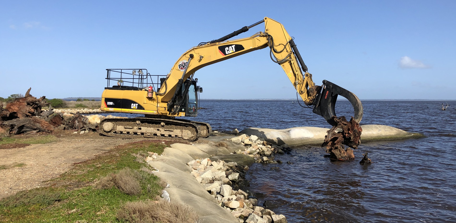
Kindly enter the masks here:
<path id="1" fill-rule="evenodd" d="M 44 181 L 61 175 L 73 163 L 91 159 L 116 145 L 139 140 L 105 137 L 97 133 L 68 134 L 52 143 L 0 150 L 0 165 L 26 164 L 0 170 L 0 198 L 47 186 Z"/>

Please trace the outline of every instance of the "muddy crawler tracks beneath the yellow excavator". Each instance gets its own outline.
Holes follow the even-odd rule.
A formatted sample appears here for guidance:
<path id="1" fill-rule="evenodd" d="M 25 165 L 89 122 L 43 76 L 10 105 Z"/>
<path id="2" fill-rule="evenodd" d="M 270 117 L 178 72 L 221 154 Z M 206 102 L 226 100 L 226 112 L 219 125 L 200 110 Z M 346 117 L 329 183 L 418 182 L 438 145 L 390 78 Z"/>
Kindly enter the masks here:
<path id="1" fill-rule="evenodd" d="M 100 134 L 113 137 L 169 137 L 184 140 L 197 140 L 199 137 L 207 137 L 210 131 L 211 126 L 204 122 L 145 117 L 104 119 L 98 128 Z"/>

